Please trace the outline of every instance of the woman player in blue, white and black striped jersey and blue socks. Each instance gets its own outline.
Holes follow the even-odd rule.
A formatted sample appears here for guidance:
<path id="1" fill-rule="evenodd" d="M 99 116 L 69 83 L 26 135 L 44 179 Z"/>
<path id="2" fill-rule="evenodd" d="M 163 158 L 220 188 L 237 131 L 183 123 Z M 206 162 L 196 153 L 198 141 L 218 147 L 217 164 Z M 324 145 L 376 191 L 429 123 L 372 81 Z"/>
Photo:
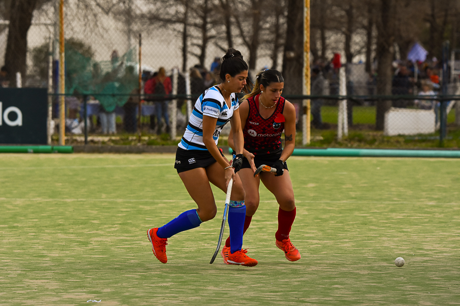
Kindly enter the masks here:
<path id="1" fill-rule="evenodd" d="M 231 243 L 228 263 L 253 267 L 257 261 L 242 250 L 243 225 L 246 215 L 244 189 L 239 176 L 243 161 L 243 133 L 235 93 L 246 87 L 247 64 L 240 51 L 230 48 L 222 58 L 219 85 L 207 89 L 196 100 L 184 136 L 176 153 L 176 168 L 198 209 L 184 211 L 178 217 L 160 228 L 150 228 L 147 236 L 152 250 L 159 261 L 166 263 L 167 239 L 171 236 L 200 226 L 200 223 L 213 219 L 217 207 L 214 201 L 212 183 L 222 191 L 227 191 L 230 179 L 233 188 L 230 195 L 228 223 Z M 236 157 L 230 162 L 217 148 L 219 134 L 230 122 L 234 134 Z"/>

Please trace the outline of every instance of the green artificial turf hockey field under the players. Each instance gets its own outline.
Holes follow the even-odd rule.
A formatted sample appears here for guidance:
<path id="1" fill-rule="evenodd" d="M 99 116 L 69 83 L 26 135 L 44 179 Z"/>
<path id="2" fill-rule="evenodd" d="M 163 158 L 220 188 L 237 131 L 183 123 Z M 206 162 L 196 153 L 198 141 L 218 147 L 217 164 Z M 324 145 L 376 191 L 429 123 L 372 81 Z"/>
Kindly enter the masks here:
<path id="1" fill-rule="evenodd" d="M 291 157 L 302 259 L 276 248 L 261 187 L 243 241 L 252 268 L 209 264 L 215 188 L 216 218 L 170 238 L 167 264 L 153 256 L 147 229 L 195 207 L 173 162 L 0 155 L 0 305 L 460 304 L 460 160 Z"/>

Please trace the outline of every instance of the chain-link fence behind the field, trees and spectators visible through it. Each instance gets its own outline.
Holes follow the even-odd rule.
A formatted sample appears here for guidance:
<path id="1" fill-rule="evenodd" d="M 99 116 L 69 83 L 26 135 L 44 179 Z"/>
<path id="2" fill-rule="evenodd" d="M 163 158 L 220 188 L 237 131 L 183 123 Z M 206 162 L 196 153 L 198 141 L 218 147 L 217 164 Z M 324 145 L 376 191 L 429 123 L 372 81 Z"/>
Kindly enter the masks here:
<path id="1" fill-rule="evenodd" d="M 23 74 L 8 69 L 16 66 L 7 62 L 14 58 L 7 56 L 7 16 L 0 22 L 0 64 L 6 68 L 2 85 L 49 88 L 53 141 L 59 124 L 58 2 L 41 1 L 33 12 Z M 302 7 L 303 1 L 297 2 Z M 387 141 L 394 147 L 411 139 L 439 138 L 444 110 L 440 97 L 460 94 L 459 30 L 454 27 L 458 1 L 451 1 L 451 12 L 445 16 L 452 26 L 449 33 L 421 26 L 427 27 L 430 38 L 398 16 L 418 21 L 447 4 L 433 8 L 422 0 L 416 14 L 414 1 L 389 7 L 382 6 L 384 2 L 311 1 L 312 145 L 377 146 L 380 139 L 397 139 Z M 164 144 L 174 130 L 180 136 L 190 102 L 220 82 L 219 58 L 228 46 L 242 51 L 252 78 L 266 68 L 283 72 L 283 95 L 294 103 L 301 120 L 302 75 L 289 67 L 290 61 L 303 58 L 290 45 L 301 35 L 303 50 L 303 28 L 290 28 L 290 22 L 303 19 L 303 10 L 296 6 L 299 3 L 291 0 L 66 0 L 67 142 L 84 141 L 85 129 L 90 143 Z M 430 18 L 441 20 L 436 14 Z M 449 48 L 443 46 L 448 34 Z M 446 139 L 458 139 L 459 103 L 444 105 Z"/>

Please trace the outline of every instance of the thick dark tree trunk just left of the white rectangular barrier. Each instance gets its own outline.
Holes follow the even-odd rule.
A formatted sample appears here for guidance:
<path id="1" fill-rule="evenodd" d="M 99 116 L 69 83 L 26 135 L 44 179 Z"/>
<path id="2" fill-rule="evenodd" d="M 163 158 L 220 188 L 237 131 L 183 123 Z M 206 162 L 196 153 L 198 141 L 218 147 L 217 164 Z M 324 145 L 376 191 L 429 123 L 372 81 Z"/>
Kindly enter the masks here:
<path id="1" fill-rule="evenodd" d="M 377 95 L 391 95 L 391 62 L 393 61 L 396 15 L 396 0 L 380 0 L 380 16 L 377 20 Z M 385 112 L 391 107 L 391 100 L 377 101 L 376 129 L 383 130 Z"/>

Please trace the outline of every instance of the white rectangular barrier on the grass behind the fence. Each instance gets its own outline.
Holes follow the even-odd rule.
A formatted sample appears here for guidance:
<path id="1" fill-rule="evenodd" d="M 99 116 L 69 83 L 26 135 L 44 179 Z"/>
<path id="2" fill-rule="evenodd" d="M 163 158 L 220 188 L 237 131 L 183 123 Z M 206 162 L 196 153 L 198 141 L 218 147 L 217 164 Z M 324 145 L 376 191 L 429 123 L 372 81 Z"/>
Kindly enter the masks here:
<path id="1" fill-rule="evenodd" d="M 435 132 L 435 113 L 433 110 L 417 110 L 391 107 L 385 113 L 387 136 L 431 134 Z"/>

